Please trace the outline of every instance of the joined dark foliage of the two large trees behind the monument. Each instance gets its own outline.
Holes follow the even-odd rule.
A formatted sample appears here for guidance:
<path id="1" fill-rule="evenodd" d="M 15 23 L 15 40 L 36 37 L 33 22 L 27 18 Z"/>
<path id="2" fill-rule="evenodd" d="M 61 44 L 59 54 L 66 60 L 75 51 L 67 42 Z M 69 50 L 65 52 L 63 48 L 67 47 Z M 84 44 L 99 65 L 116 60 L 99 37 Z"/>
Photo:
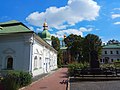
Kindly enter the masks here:
<path id="1" fill-rule="evenodd" d="M 89 55 L 92 50 L 98 52 L 101 55 L 101 39 L 94 34 L 88 34 L 84 38 L 78 35 L 71 34 L 65 38 L 65 44 L 71 51 L 73 60 L 78 62 L 88 62 Z"/>

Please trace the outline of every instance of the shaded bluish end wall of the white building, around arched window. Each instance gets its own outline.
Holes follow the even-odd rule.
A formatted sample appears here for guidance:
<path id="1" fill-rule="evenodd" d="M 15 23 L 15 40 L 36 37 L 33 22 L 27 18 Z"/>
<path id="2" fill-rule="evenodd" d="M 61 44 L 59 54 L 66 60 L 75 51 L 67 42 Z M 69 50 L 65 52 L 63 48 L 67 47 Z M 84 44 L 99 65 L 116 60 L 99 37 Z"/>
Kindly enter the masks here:
<path id="1" fill-rule="evenodd" d="M 6 69 L 6 57 L 12 56 L 14 70 L 29 71 L 30 45 L 27 41 L 30 38 L 31 35 L 26 38 L 26 34 L 0 36 L 0 69 Z"/>

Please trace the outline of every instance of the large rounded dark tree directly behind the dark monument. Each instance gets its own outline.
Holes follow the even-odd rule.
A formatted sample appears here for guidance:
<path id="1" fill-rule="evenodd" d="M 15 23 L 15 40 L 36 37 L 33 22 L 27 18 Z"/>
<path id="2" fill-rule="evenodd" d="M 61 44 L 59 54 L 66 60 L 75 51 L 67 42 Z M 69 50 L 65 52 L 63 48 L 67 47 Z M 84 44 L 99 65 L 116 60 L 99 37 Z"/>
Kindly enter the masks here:
<path id="1" fill-rule="evenodd" d="M 93 50 L 98 52 L 98 58 L 99 58 L 102 50 L 101 44 L 102 44 L 102 41 L 97 35 L 88 34 L 87 36 L 85 36 L 83 40 L 83 45 L 82 45 L 84 60 L 89 62 L 90 52 Z"/>

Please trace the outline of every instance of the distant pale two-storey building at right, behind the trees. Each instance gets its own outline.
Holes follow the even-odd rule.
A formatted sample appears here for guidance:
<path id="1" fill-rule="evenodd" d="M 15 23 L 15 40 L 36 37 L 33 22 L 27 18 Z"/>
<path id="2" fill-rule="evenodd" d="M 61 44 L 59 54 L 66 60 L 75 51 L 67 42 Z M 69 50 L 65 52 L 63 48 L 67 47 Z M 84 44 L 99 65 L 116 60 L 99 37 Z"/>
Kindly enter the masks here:
<path id="1" fill-rule="evenodd" d="M 120 60 L 120 44 L 108 44 L 103 46 L 101 63 L 112 63 Z"/>

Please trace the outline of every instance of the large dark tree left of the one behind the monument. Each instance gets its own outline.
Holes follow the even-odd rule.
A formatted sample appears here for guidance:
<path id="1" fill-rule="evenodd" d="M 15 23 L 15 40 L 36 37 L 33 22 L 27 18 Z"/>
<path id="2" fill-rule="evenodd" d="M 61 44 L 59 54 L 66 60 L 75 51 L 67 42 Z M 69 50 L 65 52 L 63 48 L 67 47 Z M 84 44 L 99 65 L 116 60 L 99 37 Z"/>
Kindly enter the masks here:
<path id="1" fill-rule="evenodd" d="M 71 56 L 74 61 L 80 62 L 82 57 L 82 40 L 83 38 L 79 35 L 71 34 L 64 39 L 66 46 L 71 52 Z"/>

